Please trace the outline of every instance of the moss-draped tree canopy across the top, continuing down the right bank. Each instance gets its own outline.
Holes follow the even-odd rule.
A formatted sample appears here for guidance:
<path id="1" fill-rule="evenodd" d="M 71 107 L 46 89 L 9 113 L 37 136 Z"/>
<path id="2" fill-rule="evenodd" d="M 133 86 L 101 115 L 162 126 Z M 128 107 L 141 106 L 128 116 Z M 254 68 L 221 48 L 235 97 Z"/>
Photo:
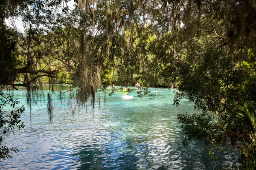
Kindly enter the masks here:
<path id="1" fill-rule="evenodd" d="M 71 84 L 71 97 L 93 105 L 96 91 L 108 85 L 138 81 L 144 94 L 148 85 L 177 86 L 174 105 L 185 97 L 202 110 L 178 115 L 184 144 L 196 139 L 206 146 L 232 145 L 242 155 L 241 167 L 255 167 L 255 0 L 68 3 L 0 2 L 3 87 L 26 87 L 31 102 L 49 83 L 51 115 L 55 83 Z"/>

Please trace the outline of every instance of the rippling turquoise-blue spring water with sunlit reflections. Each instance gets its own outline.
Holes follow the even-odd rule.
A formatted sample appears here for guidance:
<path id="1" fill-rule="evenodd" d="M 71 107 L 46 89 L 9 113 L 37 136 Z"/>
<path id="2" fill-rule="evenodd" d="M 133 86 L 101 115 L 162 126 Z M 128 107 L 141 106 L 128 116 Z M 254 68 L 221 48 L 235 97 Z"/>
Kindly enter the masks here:
<path id="1" fill-rule="evenodd" d="M 14 98 L 26 106 L 25 128 L 4 140 L 20 151 L 1 160 L 0 169 L 216 170 L 236 163 L 233 152 L 217 152 L 218 160 L 213 161 L 203 143 L 183 147 L 177 114 L 199 111 L 186 100 L 178 107 L 172 105 L 176 89 L 158 88 L 156 93 L 156 88 L 150 88 L 143 98 L 133 89 L 132 99 L 120 98 L 124 93 L 110 97 L 108 89 L 105 100 L 102 92 L 97 94 L 94 110 L 90 103 L 86 108 L 72 105 L 74 113 L 69 94 L 60 102 L 55 91 L 52 122 L 46 93 L 30 113 L 26 91 L 15 91 Z"/>

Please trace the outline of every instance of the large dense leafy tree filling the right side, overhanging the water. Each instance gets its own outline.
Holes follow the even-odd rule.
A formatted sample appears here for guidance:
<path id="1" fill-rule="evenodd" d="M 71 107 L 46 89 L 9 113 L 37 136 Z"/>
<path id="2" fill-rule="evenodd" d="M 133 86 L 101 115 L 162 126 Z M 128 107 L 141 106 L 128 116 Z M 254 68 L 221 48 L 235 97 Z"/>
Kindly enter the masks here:
<path id="1" fill-rule="evenodd" d="M 242 167 L 255 167 L 255 6 L 253 1 L 196 3 L 181 29 L 186 36 L 179 44 L 180 93 L 174 105 L 186 97 L 203 112 L 178 115 L 183 143 L 232 145 L 240 150 Z"/>

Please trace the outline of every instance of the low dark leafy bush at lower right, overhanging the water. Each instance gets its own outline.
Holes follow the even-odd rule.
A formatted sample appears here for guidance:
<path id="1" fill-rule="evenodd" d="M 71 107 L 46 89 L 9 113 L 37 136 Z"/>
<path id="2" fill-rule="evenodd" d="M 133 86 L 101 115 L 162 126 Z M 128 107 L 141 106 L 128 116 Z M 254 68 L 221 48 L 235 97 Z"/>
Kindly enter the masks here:
<path id="1" fill-rule="evenodd" d="M 213 149 L 231 145 L 241 153 L 241 168 L 253 169 L 256 165 L 256 109 L 244 96 L 230 108 L 233 110 L 229 110 L 226 119 L 218 112 L 178 114 L 177 119 L 185 134 L 182 143 L 186 146 L 195 139 Z"/>

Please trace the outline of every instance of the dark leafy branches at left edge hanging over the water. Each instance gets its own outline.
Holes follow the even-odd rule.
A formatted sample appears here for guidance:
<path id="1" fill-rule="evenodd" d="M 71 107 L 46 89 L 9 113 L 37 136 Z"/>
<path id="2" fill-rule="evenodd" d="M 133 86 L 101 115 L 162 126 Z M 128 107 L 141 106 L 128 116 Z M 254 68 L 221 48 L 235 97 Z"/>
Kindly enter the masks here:
<path id="1" fill-rule="evenodd" d="M 24 127 L 23 122 L 19 119 L 21 114 L 25 111 L 24 106 L 21 108 L 15 108 L 19 101 L 12 98 L 10 94 L 3 93 L 0 91 L 0 129 L 3 130 L 0 136 L 0 159 L 11 158 L 10 153 L 17 153 L 19 150 L 17 147 L 6 147 L 2 145 L 3 135 L 6 133 L 14 133 L 13 130 L 17 127 L 19 130 Z M 10 105 L 12 111 L 6 113 L 3 109 Z"/>

